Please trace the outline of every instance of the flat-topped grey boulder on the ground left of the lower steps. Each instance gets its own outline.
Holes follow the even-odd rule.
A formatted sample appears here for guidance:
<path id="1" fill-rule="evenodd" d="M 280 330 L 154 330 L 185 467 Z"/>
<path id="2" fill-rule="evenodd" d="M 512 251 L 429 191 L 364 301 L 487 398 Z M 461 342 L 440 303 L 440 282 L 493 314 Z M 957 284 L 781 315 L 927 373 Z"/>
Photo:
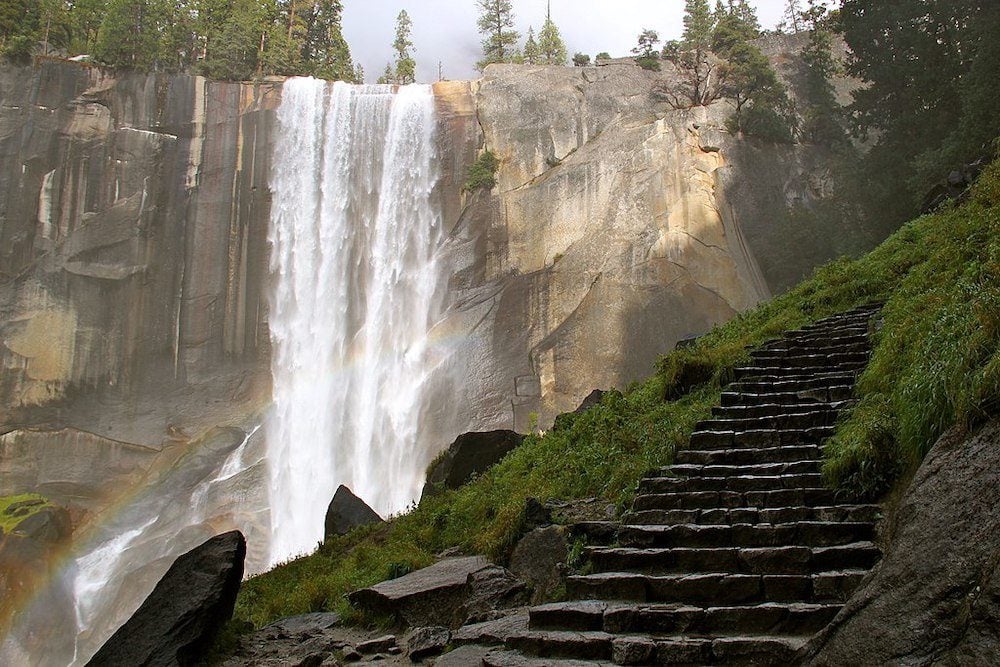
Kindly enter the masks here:
<path id="1" fill-rule="evenodd" d="M 403 625 L 457 628 L 489 612 L 522 604 L 524 582 L 481 556 L 446 558 L 348 596 L 351 604 Z"/>

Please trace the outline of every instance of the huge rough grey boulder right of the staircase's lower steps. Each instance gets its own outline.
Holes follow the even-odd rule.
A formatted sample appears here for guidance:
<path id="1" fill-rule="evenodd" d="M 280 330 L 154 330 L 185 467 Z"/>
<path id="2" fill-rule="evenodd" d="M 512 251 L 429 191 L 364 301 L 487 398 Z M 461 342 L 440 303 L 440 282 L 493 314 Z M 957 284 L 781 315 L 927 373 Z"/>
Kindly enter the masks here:
<path id="1" fill-rule="evenodd" d="M 1000 421 L 942 437 L 885 558 L 806 648 L 810 665 L 986 665 L 1000 656 Z"/>

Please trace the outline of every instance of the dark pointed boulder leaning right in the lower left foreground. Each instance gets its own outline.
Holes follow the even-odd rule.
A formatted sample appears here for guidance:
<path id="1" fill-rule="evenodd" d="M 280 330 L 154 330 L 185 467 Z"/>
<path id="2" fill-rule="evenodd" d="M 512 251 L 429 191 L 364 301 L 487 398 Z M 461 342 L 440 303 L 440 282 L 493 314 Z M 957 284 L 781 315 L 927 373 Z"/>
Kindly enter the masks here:
<path id="1" fill-rule="evenodd" d="M 243 534 L 233 531 L 178 558 L 88 664 L 195 664 L 233 615 L 246 550 Z"/>

